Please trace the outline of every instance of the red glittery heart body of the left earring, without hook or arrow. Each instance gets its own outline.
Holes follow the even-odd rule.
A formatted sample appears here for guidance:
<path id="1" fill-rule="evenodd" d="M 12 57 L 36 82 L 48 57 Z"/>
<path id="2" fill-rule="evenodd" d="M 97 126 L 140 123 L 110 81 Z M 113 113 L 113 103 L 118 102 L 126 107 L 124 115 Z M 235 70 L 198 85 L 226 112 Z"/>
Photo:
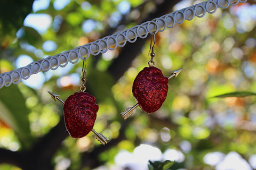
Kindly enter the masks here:
<path id="1" fill-rule="evenodd" d="M 68 133 L 73 138 L 82 138 L 93 128 L 99 106 L 95 97 L 87 92 L 76 92 L 65 101 L 63 112 Z"/>

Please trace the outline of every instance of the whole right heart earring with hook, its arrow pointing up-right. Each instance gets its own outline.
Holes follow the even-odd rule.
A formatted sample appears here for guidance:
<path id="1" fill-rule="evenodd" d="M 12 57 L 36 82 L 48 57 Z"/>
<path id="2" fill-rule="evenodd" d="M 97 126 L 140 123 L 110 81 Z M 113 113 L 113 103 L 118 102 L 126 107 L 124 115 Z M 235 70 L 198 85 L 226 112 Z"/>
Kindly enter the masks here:
<path id="1" fill-rule="evenodd" d="M 152 41 L 154 38 L 154 43 Z M 155 62 L 155 33 L 151 37 L 150 49 L 151 60 L 148 62 L 149 67 L 145 67 L 139 72 L 132 86 L 132 95 L 137 102 L 133 107 L 128 107 L 120 115 L 124 120 L 133 114 L 133 110 L 140 106 L 142 111 L 146 113 L 156 112 L 164 103 L 168 91 L 168 81 L 173 77 L 177 77 L 182 69 L 173 71 L 170 77 L 164 77 L 162 71 L 154 67 Z"/>

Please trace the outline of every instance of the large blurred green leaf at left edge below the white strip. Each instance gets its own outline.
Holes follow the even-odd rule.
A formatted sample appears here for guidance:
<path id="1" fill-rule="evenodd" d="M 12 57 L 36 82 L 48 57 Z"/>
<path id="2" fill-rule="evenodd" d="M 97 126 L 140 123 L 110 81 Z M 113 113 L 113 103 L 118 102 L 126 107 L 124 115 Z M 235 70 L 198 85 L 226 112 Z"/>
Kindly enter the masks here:
<path id="1" fill-rule="evenodd" d="M 16 85 L 0 90 L 0 119 L 14 130 L 22 145 L 28 147 L 32 137 L 25 101 Z"/>

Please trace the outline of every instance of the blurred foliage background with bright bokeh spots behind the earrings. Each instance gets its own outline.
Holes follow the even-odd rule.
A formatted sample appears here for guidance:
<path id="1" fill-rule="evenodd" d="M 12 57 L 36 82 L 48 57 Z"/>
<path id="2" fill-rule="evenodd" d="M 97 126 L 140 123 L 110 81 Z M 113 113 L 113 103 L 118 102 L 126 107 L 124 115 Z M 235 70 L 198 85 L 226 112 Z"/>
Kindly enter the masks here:
<path id="1" fill-rule="evenodd" d="M 201 1 L 36 0 L 0 3 L 0 72 L 84 45 Z M 150 36 L 86 60 L 87 92 L 99 105 L 94 129 L 69 137 L 62 100 L 78 91 L 82 61 L 0 89 L 0 169 L 256 169 L 255 96 L 214 97 L 255 90 L 255 0 L 176 24 L 156 34 L 154 61 L 169 82 L 153 114 L 133 106 L 132 83 L 150 56 Z M 153 168 L 150 167 L 149 168 Z"/>

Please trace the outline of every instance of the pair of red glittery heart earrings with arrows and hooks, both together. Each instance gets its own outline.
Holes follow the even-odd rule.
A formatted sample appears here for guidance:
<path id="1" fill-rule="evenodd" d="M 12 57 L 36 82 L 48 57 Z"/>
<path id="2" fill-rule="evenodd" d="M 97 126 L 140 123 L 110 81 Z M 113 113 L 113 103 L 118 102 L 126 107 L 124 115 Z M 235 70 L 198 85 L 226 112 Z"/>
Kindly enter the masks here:
<path id="1" fill-rule="evenodd" d="M 151 46 L 154 37 L 153 46 Z M 128 107 L 120 115 L 124 120 L 133 114 L 133 110 L 140 106 L 142 111 L 146 113 L 156 112 L 164 103 L 167 91 L 168 81 L 177 77 L 182 69 L 173 71 L 170 77 L 164 77 L 161 70 L 155 67 L 153 58 L 155 57 L 155 34 L 151 37 L 150 49 L 151 59 L 148 62 L 149 67 L 145 67 L 139 72 L 135 78 L 132 86 L 132 94 L 137 102 L 133 107 Z M 95 104 L 95 97 L 87 92 L 85 87 L 85 60 L 83 61 L 82 86 L 80 92 L 75 92 L 64 102 L 59 98 L 59 95 L 49 92 L 52 98 L 56 101 L 58 99 L 64 105 L 63 114 L 65 125 L 68 133 L 73 138 L 82 138 L 92 131 L 103 145 L 107 144 L 108 138 L 103 134 L 97 133 L 93 130 L 94 122 L 97 116 L 99 106 Z"/>

